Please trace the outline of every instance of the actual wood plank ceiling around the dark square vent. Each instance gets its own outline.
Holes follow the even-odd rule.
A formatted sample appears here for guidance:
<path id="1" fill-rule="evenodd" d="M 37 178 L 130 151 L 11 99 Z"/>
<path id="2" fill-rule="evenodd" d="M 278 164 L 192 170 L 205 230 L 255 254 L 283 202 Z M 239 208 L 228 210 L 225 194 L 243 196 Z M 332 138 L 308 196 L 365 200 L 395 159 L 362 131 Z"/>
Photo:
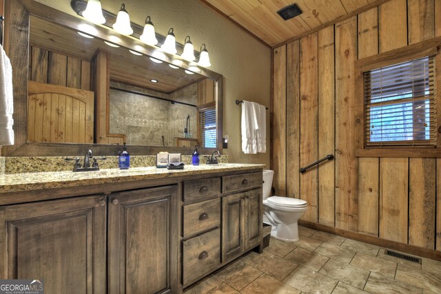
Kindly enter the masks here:
<path id="1" fill-rule="evenodd" d="M 274 47 L 344 17 L 376 0 L 201 0 Z M 296 3 L 302 14 L 284 21 L 277 11 Z"/>

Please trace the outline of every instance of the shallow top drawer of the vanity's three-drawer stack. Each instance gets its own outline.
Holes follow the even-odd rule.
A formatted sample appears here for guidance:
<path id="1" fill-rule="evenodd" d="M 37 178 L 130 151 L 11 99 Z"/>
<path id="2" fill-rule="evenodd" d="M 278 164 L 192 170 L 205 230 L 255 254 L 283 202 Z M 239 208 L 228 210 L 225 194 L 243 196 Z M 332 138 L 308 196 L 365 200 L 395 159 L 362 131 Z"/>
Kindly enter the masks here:
<path id="1" fill-rule="evenodd" d="M 204 178 L 184 182 L 184 202 L 202 201 L 220 194 L 220 178 Z"/>

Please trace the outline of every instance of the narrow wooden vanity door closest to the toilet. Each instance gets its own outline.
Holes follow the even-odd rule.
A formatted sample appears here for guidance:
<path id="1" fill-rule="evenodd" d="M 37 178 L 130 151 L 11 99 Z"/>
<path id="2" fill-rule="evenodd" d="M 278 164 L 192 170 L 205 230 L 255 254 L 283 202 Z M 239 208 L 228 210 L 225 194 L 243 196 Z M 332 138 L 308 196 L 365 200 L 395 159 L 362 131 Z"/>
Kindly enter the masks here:
<path id="1" fill-rule="evenodd" d="M 262 241 L 262 189 L 245 192 L 245 250 Z"/>

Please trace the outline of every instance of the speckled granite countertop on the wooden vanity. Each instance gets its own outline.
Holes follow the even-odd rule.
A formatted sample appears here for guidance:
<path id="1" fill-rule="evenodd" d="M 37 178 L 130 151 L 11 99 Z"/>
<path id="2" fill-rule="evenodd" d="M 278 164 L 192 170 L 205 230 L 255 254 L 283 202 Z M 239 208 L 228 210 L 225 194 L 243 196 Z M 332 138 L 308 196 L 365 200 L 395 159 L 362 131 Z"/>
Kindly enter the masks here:
<path id="1" fill-rule="evenodd" d="M 0 176 L 0 193 L 191 176 L 263 167 L 265 167 L 265 165 L 220 163 L 219 165 L 185 165 L 185 169 L 180 170 L 158 169 L 156 167 L 134 167 L 130 169 L 101 169 L 99 171 L 76 173 L 72 171 L 56 171 L 8 174 Z"/>

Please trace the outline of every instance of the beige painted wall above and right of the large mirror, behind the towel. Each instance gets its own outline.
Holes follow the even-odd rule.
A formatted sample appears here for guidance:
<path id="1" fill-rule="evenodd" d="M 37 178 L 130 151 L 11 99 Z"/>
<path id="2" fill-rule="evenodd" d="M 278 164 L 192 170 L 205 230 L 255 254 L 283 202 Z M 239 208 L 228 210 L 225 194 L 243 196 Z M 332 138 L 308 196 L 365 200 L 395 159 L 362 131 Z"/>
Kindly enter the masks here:
<path id="1" fill-rule="evenodd" d="M 37 0 L 63 12 L 75 15 L 70 0 Z M 114 14 L 121 0 L 101 0 L 103 9 Z M 156 32 L 166 35 L 174 28 L 176 41 L 184 43 L 190 35 L 195 48 L 207 45 L 210 70 L 224 76 L 223 135 L 229 135 L 230 162 L 264 163 L 269 167 L 269 111 L 267 112 L 267 153 L 245 155 L 240 150 L 240 106 L 234 101 L 248 100 L 269 107 L 271 50 L 238 26 L 227 21 L 197 0 L 125 1 L 131 21 L 142 25 L 150 15 Z"/>

